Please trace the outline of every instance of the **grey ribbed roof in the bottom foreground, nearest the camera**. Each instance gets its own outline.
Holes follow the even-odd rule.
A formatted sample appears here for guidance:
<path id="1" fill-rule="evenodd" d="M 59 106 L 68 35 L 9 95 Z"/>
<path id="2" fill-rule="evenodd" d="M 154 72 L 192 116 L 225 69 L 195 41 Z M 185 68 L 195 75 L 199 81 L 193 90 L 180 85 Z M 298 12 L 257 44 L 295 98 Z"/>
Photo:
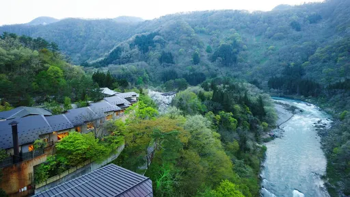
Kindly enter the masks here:
<path id="1" fill-rule="evenodd" d="M 152 181 L 146 176 L 109 164 L 34 196 L 151 197 L 153 194 Z"/>

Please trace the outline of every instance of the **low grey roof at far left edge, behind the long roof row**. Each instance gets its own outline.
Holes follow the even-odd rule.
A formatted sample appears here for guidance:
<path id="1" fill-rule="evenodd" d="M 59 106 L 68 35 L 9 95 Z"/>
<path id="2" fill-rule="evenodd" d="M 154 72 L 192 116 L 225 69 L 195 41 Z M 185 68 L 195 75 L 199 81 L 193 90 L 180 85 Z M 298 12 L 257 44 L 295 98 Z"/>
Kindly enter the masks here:
<path id="1" fill-rule="evenodd" d="M 9 111 L 1 111 L 0 119 L 13 119 L 13 118 L 23 118 L 29 115 L 44 115 L 51 116 L 51 112 L 46 109 L 37 108 L 37 107 L 16 107 Z"/>

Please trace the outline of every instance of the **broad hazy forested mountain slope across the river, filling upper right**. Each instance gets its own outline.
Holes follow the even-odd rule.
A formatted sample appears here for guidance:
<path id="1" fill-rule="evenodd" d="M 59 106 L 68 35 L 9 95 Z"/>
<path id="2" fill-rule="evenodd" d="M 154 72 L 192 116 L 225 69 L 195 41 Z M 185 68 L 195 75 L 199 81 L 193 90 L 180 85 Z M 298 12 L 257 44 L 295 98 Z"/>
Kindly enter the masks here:
<path id="1" fill-rule="evenodd" d="M 350 76 L 349 13 L 350 1 L 332 0 L 271 12 L 171 14 L 140 23 L 135 32 L 153 34 L 133 36 L 92 65 L 109 66 L 116 77 L 135 83 L 196 76 L 196 85 L 224 75 L 256 79 L 265 87 L 288 67 L 301 66 L 299 77 L 327 84 Z M 128 73 L 133 69 L 138 71 Z"/>

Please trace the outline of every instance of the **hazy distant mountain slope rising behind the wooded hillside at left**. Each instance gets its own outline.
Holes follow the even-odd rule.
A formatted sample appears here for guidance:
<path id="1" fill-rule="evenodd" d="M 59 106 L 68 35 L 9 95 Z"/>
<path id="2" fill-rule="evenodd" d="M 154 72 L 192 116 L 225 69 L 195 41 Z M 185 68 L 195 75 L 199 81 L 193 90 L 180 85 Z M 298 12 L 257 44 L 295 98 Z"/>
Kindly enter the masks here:
<path id="1" fill-rule="evenodd" d="M 132 22 L 128 23 L 126 20 Z M 0 27 L 0 34 L 8 31 L 56 42 L 62 53 L 68 55 L 73 63 L 80 64 L 103 56 L 119 42 L 133 36 L 135 25 L 138 24 L 136 21 L 140 20 L 126 16 L 100 20 L 66 18 L 49 25 L 3 25 Z M 44 20 L 38 19 L 31 23 L 38 24 L 42 21 Z"/>

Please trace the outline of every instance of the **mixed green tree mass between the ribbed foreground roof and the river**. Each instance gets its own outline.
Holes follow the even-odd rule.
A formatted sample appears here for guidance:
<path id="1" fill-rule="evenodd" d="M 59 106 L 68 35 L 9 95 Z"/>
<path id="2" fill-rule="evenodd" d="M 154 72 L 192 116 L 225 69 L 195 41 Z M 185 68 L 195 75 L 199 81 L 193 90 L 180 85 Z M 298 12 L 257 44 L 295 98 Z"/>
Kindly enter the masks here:
<path id="1" fill-rule="evenodd" d="M 114 163 L 149 176 L 154 196 L 260 195 L 266 147 L 257 142 L 277 116 L 258 88 L 215 78 L 178 92 L 166 114 L 144 95 L 128 110 Z"/>

